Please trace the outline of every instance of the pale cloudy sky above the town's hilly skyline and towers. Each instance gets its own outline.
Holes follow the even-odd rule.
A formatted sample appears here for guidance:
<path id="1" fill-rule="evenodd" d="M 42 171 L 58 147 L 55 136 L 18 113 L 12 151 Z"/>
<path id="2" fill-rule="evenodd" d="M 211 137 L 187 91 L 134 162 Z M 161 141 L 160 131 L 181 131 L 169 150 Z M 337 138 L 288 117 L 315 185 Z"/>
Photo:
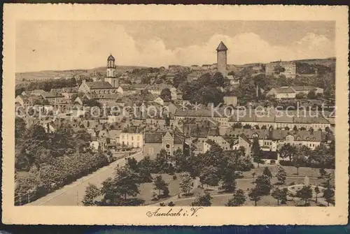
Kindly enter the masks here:
<path id="1" fill-rule="evenodd" d="M 24 21 L 16 25 L 16 72 L 117 65 L 228 64 L 335 56 L 334 22 Z"/>

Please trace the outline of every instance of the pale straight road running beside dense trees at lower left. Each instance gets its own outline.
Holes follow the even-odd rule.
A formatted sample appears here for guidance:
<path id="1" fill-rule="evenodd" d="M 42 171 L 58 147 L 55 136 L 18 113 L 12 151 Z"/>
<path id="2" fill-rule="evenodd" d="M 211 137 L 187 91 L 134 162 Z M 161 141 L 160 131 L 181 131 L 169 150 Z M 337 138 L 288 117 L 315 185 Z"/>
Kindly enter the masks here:
<path id="1" fill-rule="evenodd" d="M 137 152 L 136 154 L 132 154 L 130 156 L 137 159 L 137 161 L 144 158 L 142 152 Z M 101 187 L 104 180 L 113 176 L 114 168 L 124 165 L 125 158 L 118 159 L 109 164 L 109 166 L 105 166 L 90 175 L 81 177 L 75 182 L 62 187 L 62 189 L 49 193 L 48 195 L 39 198 L 38 200 L 34 200 L 34 202 L 28 203 L 27 205 L 82 205 L 81 200 L 83 200 L 85 188 L 89 183 L 95 184 L 97 187 Z"/>

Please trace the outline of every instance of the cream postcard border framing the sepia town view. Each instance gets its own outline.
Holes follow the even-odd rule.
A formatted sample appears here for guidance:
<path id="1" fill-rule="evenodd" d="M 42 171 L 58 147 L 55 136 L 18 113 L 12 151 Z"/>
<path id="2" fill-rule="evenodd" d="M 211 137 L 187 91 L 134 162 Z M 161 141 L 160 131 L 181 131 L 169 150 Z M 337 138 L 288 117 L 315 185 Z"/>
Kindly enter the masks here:
<path id="1" fill-rule="evenodd" d="M 165 6 L 4 4 L 3 200 L 4 224 L 195 225 L 346 224 L 348 216 L 347 6 Z M 197 217 L 152 217 L 155 207 L 21 206 L 14 200 L 15 25 L 19 20 L 335 20 L 337 118 L 335 207 L 205 207 Z M 189 209 L 189 207 L 184 207 Z"/>

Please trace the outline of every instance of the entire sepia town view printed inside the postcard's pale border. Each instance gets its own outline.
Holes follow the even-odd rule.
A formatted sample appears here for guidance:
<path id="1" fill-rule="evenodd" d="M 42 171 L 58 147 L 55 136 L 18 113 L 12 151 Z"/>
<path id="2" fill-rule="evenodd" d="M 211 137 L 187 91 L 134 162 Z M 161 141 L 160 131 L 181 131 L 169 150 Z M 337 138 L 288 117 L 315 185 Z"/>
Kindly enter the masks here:
<path id="1" fill-rule="evenodd" d="M 16 36 L 15 205 L 335 205 L 334 22 Z"/>

